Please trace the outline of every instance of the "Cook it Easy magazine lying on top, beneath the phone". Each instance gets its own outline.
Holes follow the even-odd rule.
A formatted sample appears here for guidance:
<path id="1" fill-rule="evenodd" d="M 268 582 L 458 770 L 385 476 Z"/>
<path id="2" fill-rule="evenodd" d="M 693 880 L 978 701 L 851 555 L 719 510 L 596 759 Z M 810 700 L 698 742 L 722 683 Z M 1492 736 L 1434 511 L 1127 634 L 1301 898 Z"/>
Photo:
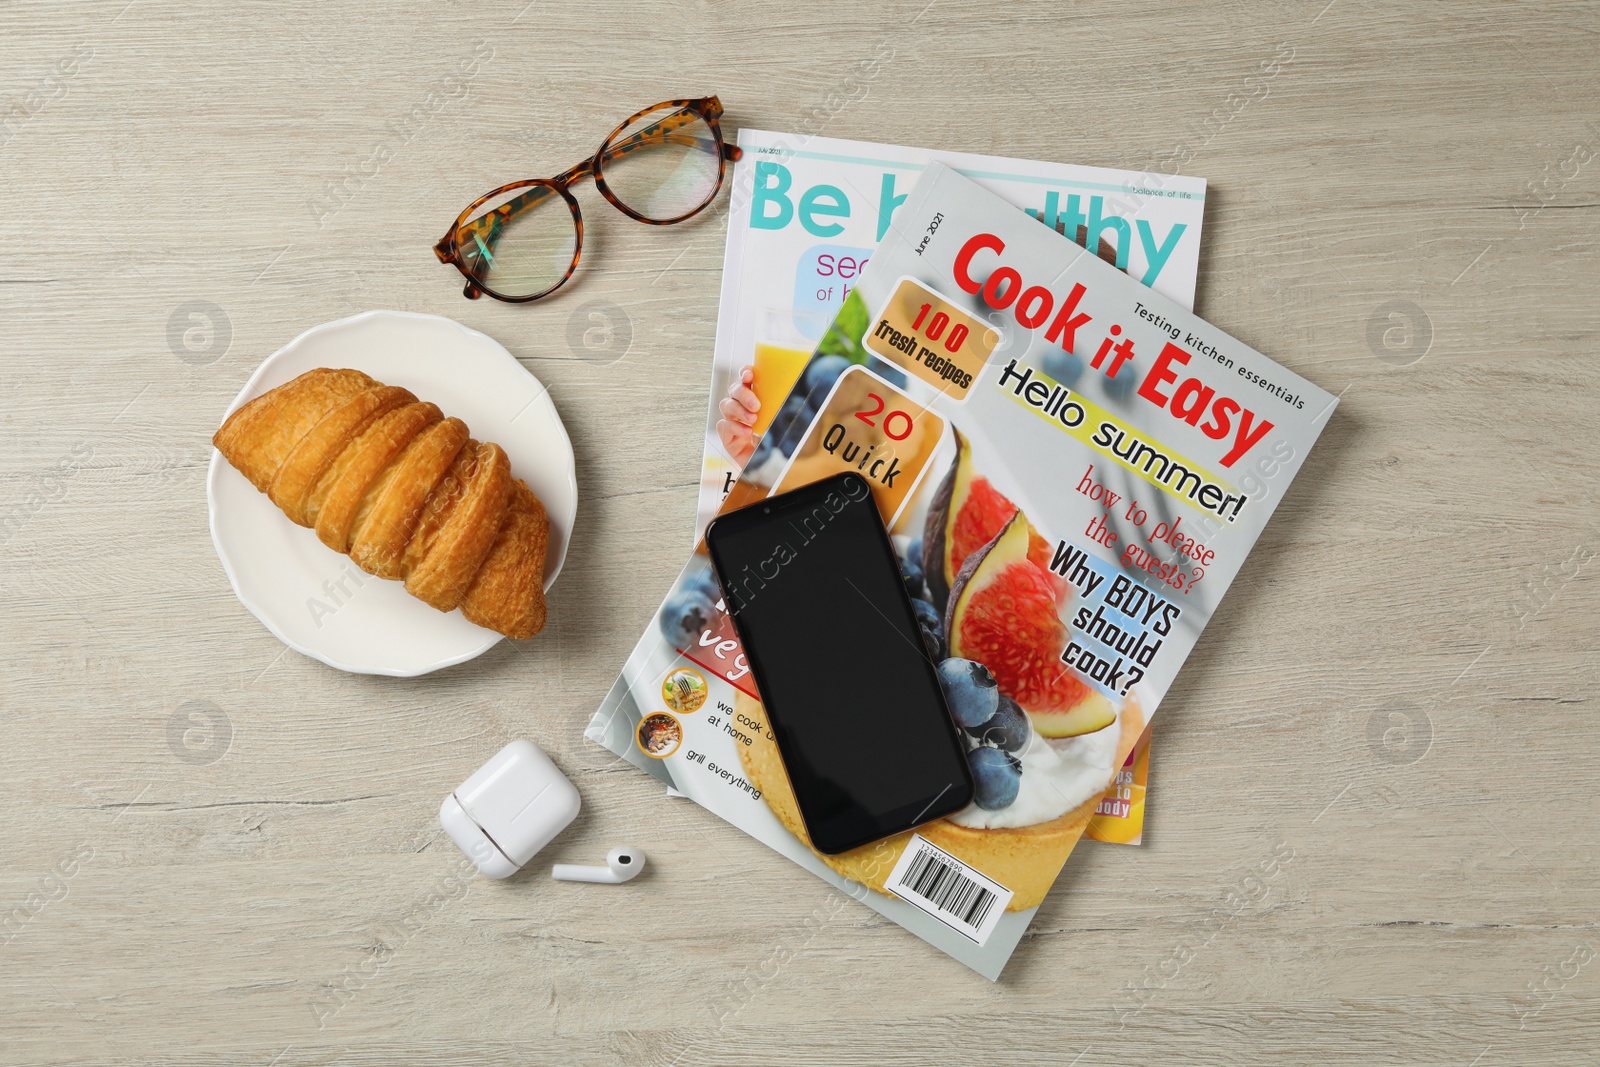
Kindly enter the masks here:
<path id="1" fill-rule="evenodd" d="M 699 552 L 587 736 L 997 977 L 1334 403 L 930 163 L 725 507 L 867 478 L 976 801 L 814 853 Z"/>

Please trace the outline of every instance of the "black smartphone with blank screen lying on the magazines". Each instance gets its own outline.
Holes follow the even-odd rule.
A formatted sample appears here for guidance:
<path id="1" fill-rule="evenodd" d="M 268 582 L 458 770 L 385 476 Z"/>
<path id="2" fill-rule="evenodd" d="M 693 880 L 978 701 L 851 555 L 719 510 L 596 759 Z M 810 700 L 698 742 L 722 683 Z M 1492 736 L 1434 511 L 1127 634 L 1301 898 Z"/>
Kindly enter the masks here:
<path id="1" fill-rule="evenodd" d="M 728 512 L 706 547 L 819 853 L 971 803 L 966 745 L 866 478 Z"/>

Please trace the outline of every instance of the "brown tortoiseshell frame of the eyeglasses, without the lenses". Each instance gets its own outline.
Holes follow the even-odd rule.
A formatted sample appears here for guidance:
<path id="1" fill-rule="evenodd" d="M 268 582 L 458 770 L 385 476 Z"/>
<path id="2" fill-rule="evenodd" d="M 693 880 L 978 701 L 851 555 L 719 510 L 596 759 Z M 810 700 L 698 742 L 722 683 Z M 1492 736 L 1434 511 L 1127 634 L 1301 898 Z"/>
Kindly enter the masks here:
<path id="1" fill-rule="evenodd" d="M 634 125 L 645 115 L 658 110 L 666 110 L 667 114 L 664 114 L 658 122 L 653 122 L 643 130 L 629 134 L 626 141 L 613 144 L 613 141 L 616 141 L 616 138 L 621 136 L 624 130 L 627 130 L 630 125 Z M 722 125 L 718 122 L 720 118 L 722 118 L 722 101 L 718 101 L 715 96 L 704 96 L 701 99 L 662 101 L 659 104 L 651 104 L 650 107 L 635 112 L 627 118 L 624 118 L 621 123 L 618 123 L 616 130 L 613 130 L 606 136 L 606 139 L 600 142 L 600 147 L 595 150 L 594 155 L 590 155 L 587 160 L 581 163 L 570 166 L 555 178 L 530 178 L 525 181 L 514 181 L 509 186 L 491 189 L 490 192 L 483 194 L 482 197 L 469 203 L 466 211 L 456 216 L 456 221 L 450 226 L 450 232 L 445 234 L 445 237 L 442 237 L 437 245 L 434 245 L 434 254 L 438 256 L 440 262 L 454 264 L 456 270 L 461 272 L 461 277 L 467 280 L 467 285 L 461 291 L 461 294 L 470 301 L 478 299 L 485 293 L 488 293 L 498 301 L 506 301 L 507 304 L 526 304 L 528 301 L 546 298 L 555 290 L 566 285 L 566 280 L 573 277 L 574 270 L 578 270 L 578 261 L 584 254 L 584 214 L 578 208 L 578 200 L 573 198 L 573 194 L 570 190 L 571 184 L 586 176 L 594 178 L 595 187 L 600 190 L 600 195 L 605 197 L 613 208 L 629 216 L 630 219 L 638 219 L 640 222 L 648 222 L 650 226 L 672 226 L 674 222 L 683 222 L 685 219 L 693 219 L 696 214 L 710 206 L 712 200 L 717 198 L 717 194 L 722 192 L 722 182 L 726 178 L 728 163 L 736 162 L 742 155 L 738 146 L 728 144 L 726 141 L 722 139 Z M 712 187 L 706 200 L 701 202 L 693 211 L 686 211 L 677 216 L 675 219 L 653 219 L 650 216 L 640 214 L 638 211 L 622 203 L 616 197 L 616 194 L 611 192 L 611 187 L 606 186 L 605 165 L 610 160 L 618 158 L 619 155 L 626 155 L 629 152 L 635 152 L 643 147 L 672 141 L 677 141 L 680 144 L 693 142 L 694 141 L 693 138 L 688 138 L 686 134 L 677 134 L 675 131 L 682 126 L 690 125 L 694 120 L 704 122 L 710 128 L 710 133 L 717 141 L 717 184 Z M 472 213 L 482 208 L 490 200 L 502 197 L 509 192 L 515 192 L 517 189 L 526 189 L 528 192 L 525 192 L 520 197 L 507 200 L 493 211 L 485 213 L 482 218 L 477 219 L 472 218 Z M 573 213 L 573 227 L 578 232 L 578 240 L 573 243 L 573 261 L 566 266 L 566 274 L 563 274 L 560 280 L 555 282 L 555 285 L 544 290 L 542 293 L 531 293 L 528 296 L 506 296 L 504 293 L 496 293 L 482 282 L 482 270 L 483 270 L 482 259 L 478 259 L 478 262 L 467 262 L 467 259 L 470 258 L 470 251 L 467 256 L 464 256 L 462 248 L 470 250 L 469 242 L 474 237 L 482 237 L 485 230 L 493 229 L 494 226 L 517 214 L 523 208 L 533 206 L 539 200 L 544 200 L 546 197 L 552 195 L 558 195 L 562 200 L 566 202 L 566 210 Z"/>

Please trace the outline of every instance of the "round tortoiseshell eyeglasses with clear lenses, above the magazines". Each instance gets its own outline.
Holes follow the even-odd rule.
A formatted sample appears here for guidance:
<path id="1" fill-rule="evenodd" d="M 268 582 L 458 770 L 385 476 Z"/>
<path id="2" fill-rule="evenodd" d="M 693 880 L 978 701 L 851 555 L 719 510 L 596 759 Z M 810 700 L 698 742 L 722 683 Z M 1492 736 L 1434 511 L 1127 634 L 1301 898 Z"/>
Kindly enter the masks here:
<path id="1" fill-rule="evenodd" d="M 462 296 L 526 302 L 562 288 L 578 269 L 584 216 L 570 190 L 592 176 L 622 214 L 670 226 L 717 198 L 738 146 L 722 139 L 722 101 L 666 101 L 632 115 L 600 150 L 555 178 L 512 182 L 467 205 L 434 254 L 467 280 Z"/>

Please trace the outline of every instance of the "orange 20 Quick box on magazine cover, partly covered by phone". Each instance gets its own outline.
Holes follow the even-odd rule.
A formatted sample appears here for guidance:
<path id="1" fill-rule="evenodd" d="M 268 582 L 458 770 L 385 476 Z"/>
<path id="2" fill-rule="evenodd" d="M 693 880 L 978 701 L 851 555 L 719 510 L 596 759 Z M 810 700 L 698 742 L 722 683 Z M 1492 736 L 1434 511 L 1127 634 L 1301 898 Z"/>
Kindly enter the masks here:
<path id="1" fill-rule="evenodd" d="M 941 437 L 944 419 L 872 371 L 851 366 L 834 382 L 771 494 L 856 470 L 893 530 Z"/>

